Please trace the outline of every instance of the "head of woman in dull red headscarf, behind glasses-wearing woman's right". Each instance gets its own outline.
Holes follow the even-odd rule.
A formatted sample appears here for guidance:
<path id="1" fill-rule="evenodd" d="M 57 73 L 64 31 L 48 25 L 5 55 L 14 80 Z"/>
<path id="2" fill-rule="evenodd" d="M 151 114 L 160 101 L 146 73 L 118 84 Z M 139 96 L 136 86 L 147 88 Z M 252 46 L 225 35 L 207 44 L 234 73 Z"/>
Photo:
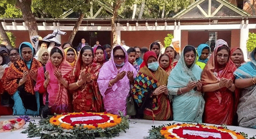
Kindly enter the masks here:
<path id="1" fill-rule="evenodd" d="M 236 68 L 239 68 L 241 64 L 245 63 L 243 51 L 238 47 L 231 49 L 230 58 L 235 63 Z"/>

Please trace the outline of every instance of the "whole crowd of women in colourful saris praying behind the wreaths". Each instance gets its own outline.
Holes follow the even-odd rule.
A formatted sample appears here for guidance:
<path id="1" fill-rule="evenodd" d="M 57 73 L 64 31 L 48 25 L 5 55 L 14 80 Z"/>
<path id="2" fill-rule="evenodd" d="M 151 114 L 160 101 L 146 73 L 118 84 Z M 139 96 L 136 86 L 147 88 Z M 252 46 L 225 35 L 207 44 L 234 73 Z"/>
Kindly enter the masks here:
<path id="1" fill-rule="evenodd" d="M 40 115 L 48 99 L 52 115 L 126 115 L 132 96 L 137 118 L 256 128 L 256 49 L 247 63 L 240 48 L 230 50 L 221 39 L 213 52 L 207 44 L 187 45 L 180 53 L 160 49 L 157 42 L 144 54 L 139 47 L 106 44 L 77 53 L 65 43 L 50 52 L 41 48 L 36 60 L 29 42 L 10 51 L 2 47 L 0 93 L 14 104 L 0 106 L 0 114 Z"/>

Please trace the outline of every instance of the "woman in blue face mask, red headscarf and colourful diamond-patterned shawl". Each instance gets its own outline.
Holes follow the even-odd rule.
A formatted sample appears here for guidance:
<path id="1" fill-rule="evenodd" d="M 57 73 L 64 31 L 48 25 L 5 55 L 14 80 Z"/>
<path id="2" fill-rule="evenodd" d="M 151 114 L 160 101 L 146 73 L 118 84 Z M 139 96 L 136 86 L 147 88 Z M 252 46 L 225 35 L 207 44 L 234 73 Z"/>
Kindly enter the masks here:
<path id="1" fill-rule="evenodd" d="M 132 88 L 133 98 L 139 106 L 137 115 L 144 119 L 168 120 L 172 117 L 166 87 L 168 75 L 159 67 L 153 51 L 144 54 L 143 62 L 145 66 L 140 68 Z"/>

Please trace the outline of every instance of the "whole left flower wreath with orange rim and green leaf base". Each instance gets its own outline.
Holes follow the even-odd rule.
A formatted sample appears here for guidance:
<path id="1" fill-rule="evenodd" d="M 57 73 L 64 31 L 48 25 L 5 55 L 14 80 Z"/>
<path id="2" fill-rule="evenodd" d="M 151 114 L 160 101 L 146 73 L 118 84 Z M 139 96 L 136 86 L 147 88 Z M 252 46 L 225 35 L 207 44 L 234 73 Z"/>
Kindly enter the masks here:
<path id="1" fill-rule="evenodd" d="M 22 133 L 41 139 L 94 139 L 116 137 L 129 128 L 129 121 L 110 113 L 63 113 L 42 119 L 39 124 L 30 122 Z M 91 118 L 91 119 L 90 119 Z"/>

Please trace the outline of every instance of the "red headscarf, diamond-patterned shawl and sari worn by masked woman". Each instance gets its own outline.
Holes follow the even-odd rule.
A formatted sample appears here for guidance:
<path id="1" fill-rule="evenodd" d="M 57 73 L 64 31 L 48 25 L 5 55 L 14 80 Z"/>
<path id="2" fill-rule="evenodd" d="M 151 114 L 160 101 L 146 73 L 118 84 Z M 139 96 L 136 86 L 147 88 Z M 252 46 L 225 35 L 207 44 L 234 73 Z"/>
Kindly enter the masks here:
<path id="1" fill-rule="evenodd" d="M 148 69 L 146 62 L 148 58 L 152 56 L 157 59 L 153 51 L 148 51 L 144 54 L 143 60 L 146 65 L 139 70 L 132 88 L 133 97 L 139 106 L 141 106 L 144 101 L 148 101 L 145 100 L 148 93 L 152 93 L 161 85 L 167 85 L 168 75 L 160 66 L 155 72 Z M 152 104 L 148 104 L 144 109 L 144 119 L 167 120 L 171 117 L 171 105 L 167 95 L 153 95 L 151 103 Z"/>

